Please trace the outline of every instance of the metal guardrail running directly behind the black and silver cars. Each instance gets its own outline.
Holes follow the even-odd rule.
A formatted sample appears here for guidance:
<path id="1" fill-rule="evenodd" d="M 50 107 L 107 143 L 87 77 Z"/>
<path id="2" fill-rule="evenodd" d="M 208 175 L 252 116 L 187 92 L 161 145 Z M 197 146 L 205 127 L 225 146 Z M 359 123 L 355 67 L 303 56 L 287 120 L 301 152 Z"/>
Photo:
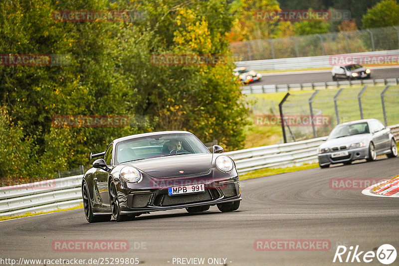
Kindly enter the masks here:
<path id="1" fill-rule="evenodd" d="M 390 126 L 399 141 L 399 124 Z M 238 173 L 276 166 L 317 162 L 317 147 L 324 137 L 225 152 L 236 164 Z M 27 212 L 52 211 L 82 203 L 83 175 L 45 181 L 50 188 L 40 189 L 42 182 L 0 187 L 0 217 Z"/>

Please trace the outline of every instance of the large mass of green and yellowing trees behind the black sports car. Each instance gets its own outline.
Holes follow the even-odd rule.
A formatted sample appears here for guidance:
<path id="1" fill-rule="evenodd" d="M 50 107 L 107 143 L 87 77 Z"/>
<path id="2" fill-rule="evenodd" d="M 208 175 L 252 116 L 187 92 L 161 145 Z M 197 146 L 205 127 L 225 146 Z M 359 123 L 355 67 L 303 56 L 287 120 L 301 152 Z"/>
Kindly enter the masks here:
<path id="1" fill-rule="evenodd" d="M 234 14 L 222 0 L 17 0 L 0 2 L 4 54 L 65 55 L 64 65 L 0 65 L 1 176 L 51 177 L 89 164 L 114 138 L 188 130 L 226 149 L 243 145 L 248 110 L 232 60 L 162 66 L 156 54 L 231 57 Z M 56 10 L 132 10 L 129 21 L 64 22 Z M 129 116 L 125 127 L 54 127 L 55 116 Z M 9 147 L 5 149 L 5 147 Z M 23 159 L 21 159 L 23 158 Z M 6 163 L 0 159 L 0 167 Z M 19 171 L 19 172 L 18 172 Z"/>

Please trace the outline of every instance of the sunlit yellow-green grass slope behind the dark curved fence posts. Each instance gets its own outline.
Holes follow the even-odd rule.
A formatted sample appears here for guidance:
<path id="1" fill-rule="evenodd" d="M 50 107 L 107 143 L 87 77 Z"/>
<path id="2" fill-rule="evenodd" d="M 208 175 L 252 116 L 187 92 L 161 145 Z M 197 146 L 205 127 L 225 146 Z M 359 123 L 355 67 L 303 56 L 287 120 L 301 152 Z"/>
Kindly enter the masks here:
<path id="1" fill-rule="evenodd" d="M 352 86 L 345 88 L 338 97 L 338 112 L 340 123 L 359 120 L 360 110 L 358 94 L 363 86 Z M 364 118 L 376 118 L 384 122 L 381 92 L 385 86 L 368 86 L 362 97 Z M 331 117 L 331 126 L 316 128 L 318 136 L 328 135 L 337 124 L 334 107 L 334 96 L 338 89 L 319 90 L 313 102 L 314 111 L 322 111 L 323 115 Z M 290 96 L 283 105 L 285 114 L 310 114 L 308 100 L 314 91 L 290 91 Z M 278 104 L 286 95 L 286 92 L 252 94 L 247 99 L 254 100 L 252 113 L 249 117 L 250 125 L 246 127 L 245 148 L 258 147 L 282 143 L 282 131 L 280 126 L 267 127 L 254 125 L 254 118 L 257 115 L 279 114 Z M 391 86 L 386 93 L 386 114 L 388 125 L 399 124 L 399 113 L 397 112 L 399 98 L 399 86 Z M 298 139 L 311 137 L 311 129 L 305 127 L 291 128 Z M 310 134 L 310 135 L 309 135 Z"/>

